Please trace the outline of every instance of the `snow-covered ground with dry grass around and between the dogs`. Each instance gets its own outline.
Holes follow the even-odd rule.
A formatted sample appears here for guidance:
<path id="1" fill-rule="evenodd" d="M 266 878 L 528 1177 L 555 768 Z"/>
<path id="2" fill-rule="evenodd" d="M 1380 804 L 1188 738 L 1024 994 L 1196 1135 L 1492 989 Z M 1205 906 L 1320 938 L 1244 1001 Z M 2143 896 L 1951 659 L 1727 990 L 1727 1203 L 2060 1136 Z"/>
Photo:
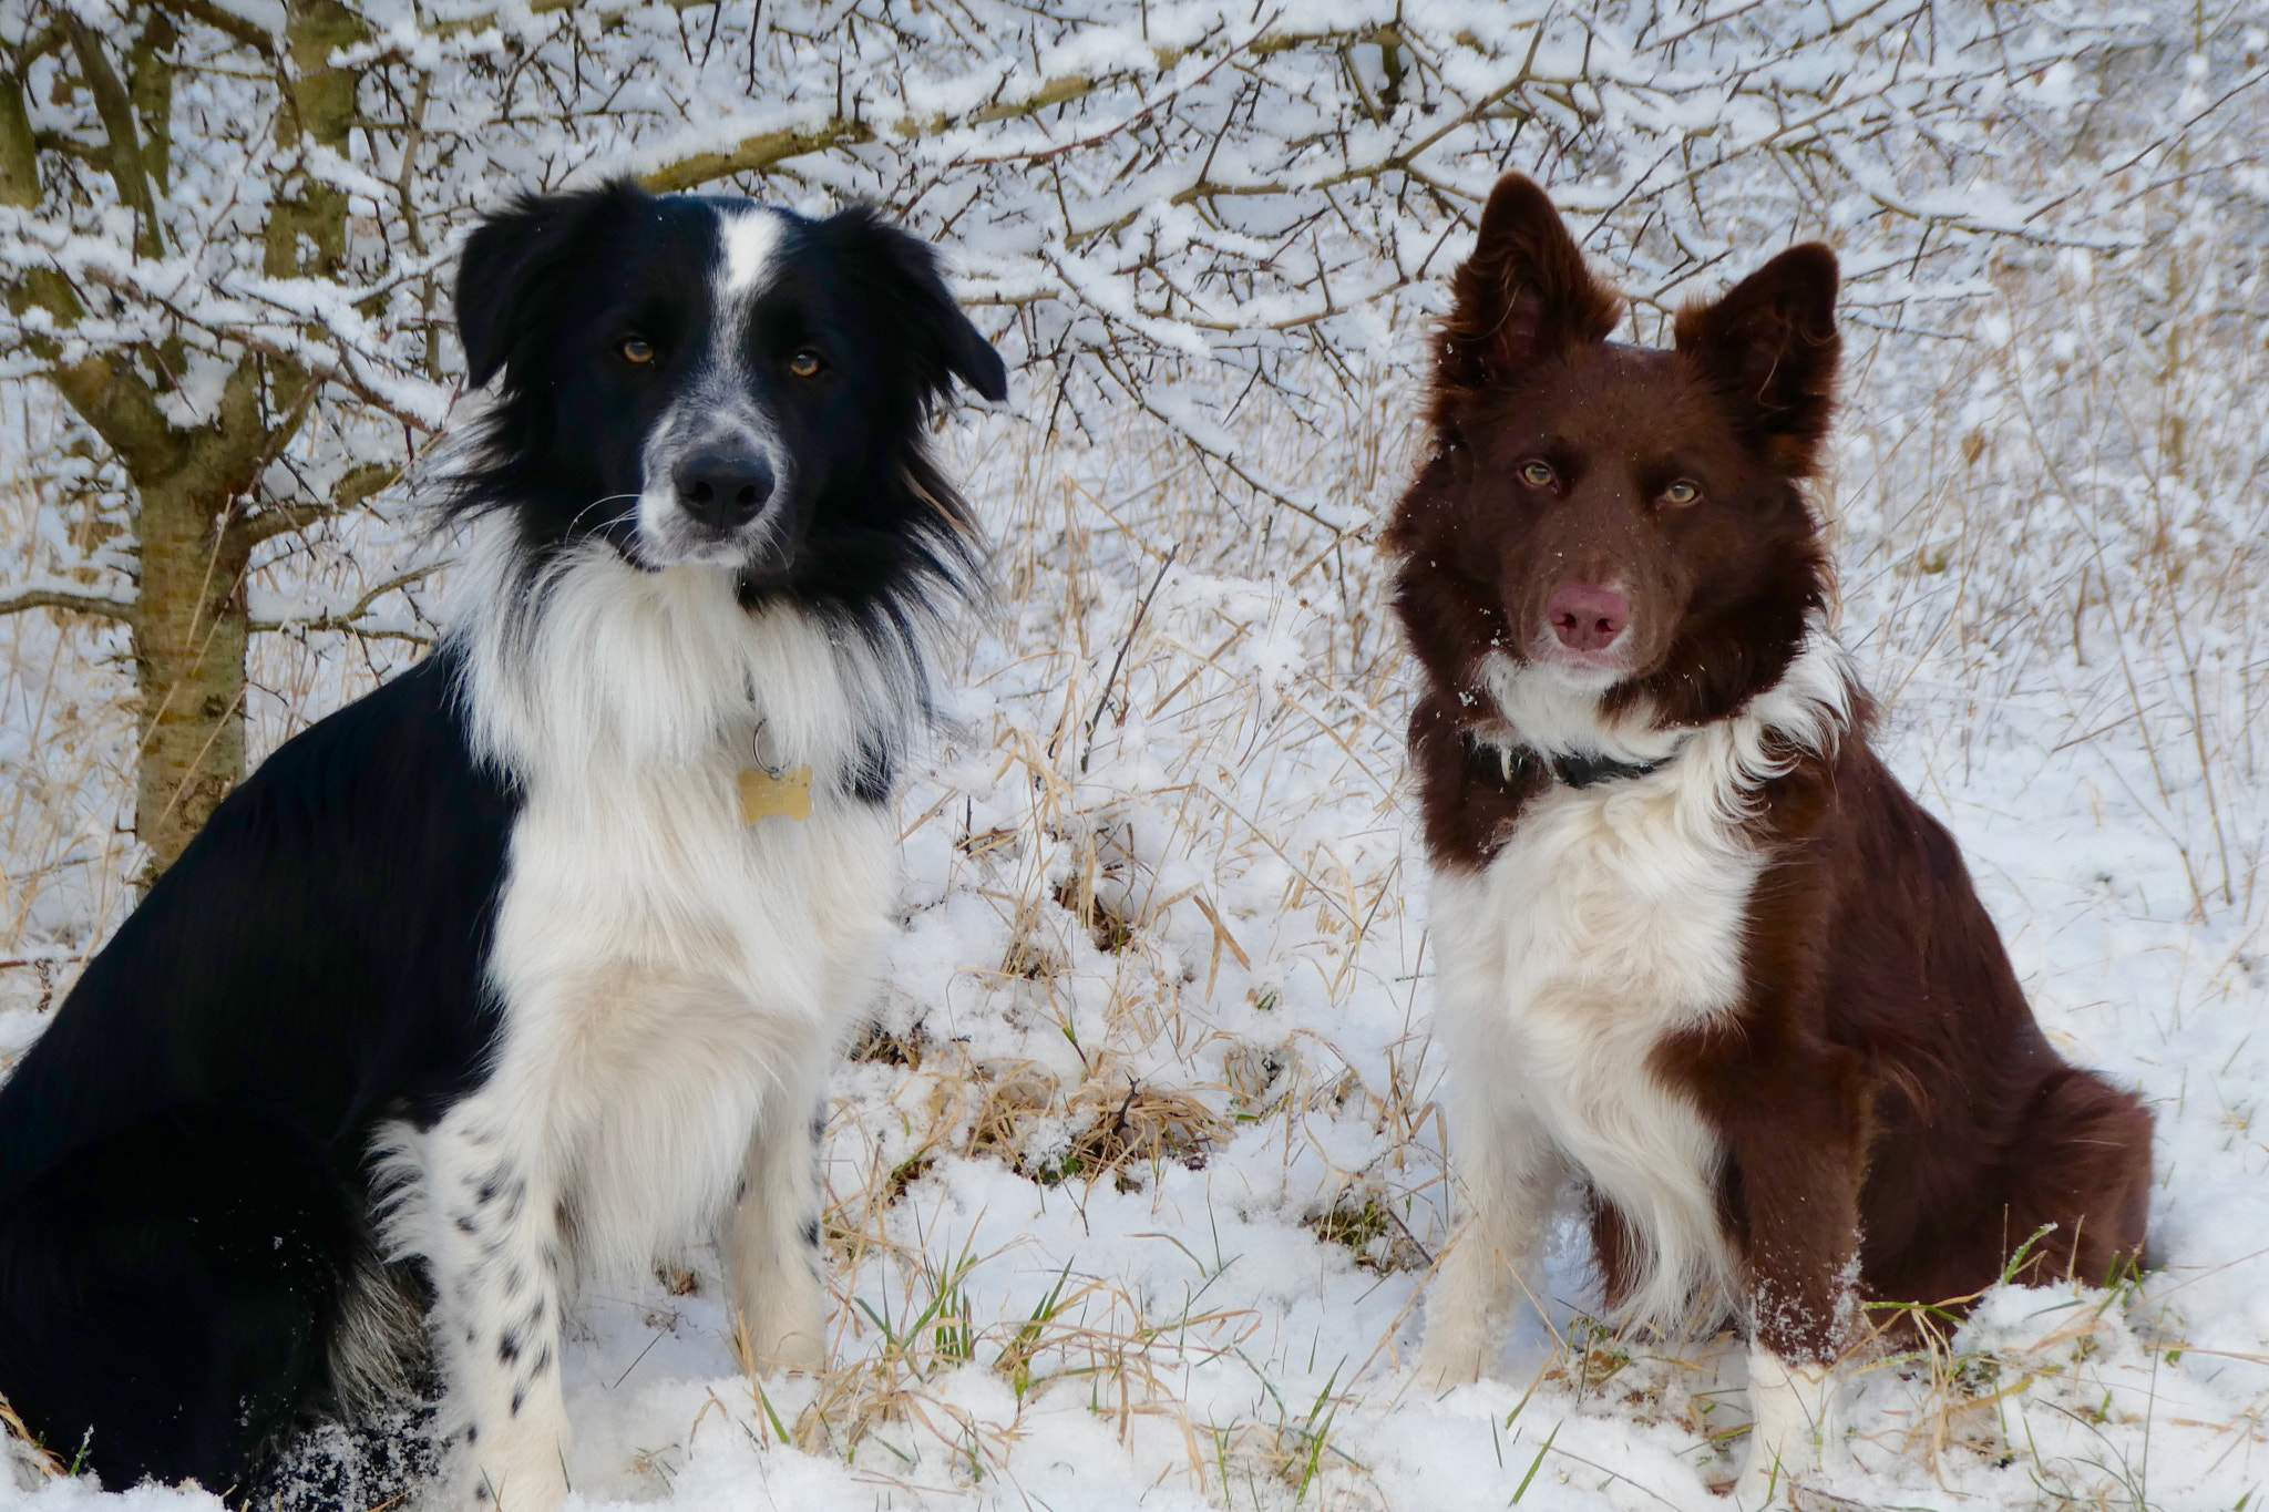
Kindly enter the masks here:
<path id="1" fill-rule="evenodd" d="M 1863 347 L 1824 503 L 1892 768 L 1965 843 L 2065 1054 L 2158 1111 L 2160 1265 L 2001 1290 L 1940 1349 L 1867 1362 L 1815 1505 L 2203 1510 L 2269 1485 L 2260 329 L 2158 365 L 2076 313 L 2074 279 L 2038 267 L 1963 342 Z M 1391 385 L 1246 444 L 1375 515 L 1409 413 Z M 2167 415 L 2190 417 L 2171 447 Z M 583 1501 L 1724 1505 L 1738 1362 L 1720 1381 L 1722 1349 L 1593 1328 L 1572 1229 L 1495 1381 L 1436 1401 L 1402 1369 L 1445 1238 L 1443 1065 L 1368 542 L 1139 428 L 1048 449 L 996 417 L 953 453 L 998 594 L 901 800 L 905 927 L 835 1079 L 835 1362 L 751 1383 L 706 1254 L 594 1288 L 567 1362 Z M 0 635 L 5 1061 L 116 923 L 129 725 L 102 642 Z M 302 689 L 261 705 L 270 744 L 370 678 L 263 655 Z M 98 1501 L 200 1505 L 0 1476 L 0 1505 Z"/>

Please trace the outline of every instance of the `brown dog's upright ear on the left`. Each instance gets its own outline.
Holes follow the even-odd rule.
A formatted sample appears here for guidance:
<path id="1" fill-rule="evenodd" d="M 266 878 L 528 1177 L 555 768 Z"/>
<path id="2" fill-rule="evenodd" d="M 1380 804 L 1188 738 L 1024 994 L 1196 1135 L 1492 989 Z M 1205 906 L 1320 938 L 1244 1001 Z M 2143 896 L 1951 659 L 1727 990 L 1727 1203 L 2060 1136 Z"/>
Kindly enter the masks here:
<path id="1" fill-rule="evenodd" d="M 1622 297 L 1591 277 L 1552 199 L 1509 172 L 1488 193 L 1482 236 L 1452 279 L 1439 383 L 1479 390 L 1577 342 L 1604 342 Z"/>

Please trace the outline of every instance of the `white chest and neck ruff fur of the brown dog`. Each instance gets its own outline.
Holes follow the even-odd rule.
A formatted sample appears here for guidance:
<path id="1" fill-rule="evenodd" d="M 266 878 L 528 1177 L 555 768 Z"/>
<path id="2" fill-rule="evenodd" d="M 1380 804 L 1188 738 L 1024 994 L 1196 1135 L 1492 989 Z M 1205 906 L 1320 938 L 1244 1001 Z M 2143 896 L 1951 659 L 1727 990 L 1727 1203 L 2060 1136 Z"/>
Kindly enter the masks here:
<path id="1" fill-rule="evenodd" d="M 1527 730 L 1532 678 L 1511 662 L 1488 671 L 1502 712 Z M 1727 1276 L 1715 1204 L 1724 1152 L 1652 1056 L 1740 1004 L 1763 870 L 1745 818 L 1793 750 L 1833 746 L 1849 685 L 1842 653 L 1815 632 L 1777 687 L 1702 730 L 1656 732 L 1643 712 L 1636 732 L 1602 728 L 1591 707 L 1550 707 L 1561 719 L 1532 739 L 1675 759 L 1588 789 L 1552 784 L 1479 875 L 1436 875 L 1436 1034 L 1452 1056 L 1468 1204 L 1498 1224 L 1491 1233 L 1534 1235 L 1536 1215 L 1491 1208 L 1532 1204 L 1572 1170 L 1638 1245 L 1627 1315 L 1675 1324 Z"/>

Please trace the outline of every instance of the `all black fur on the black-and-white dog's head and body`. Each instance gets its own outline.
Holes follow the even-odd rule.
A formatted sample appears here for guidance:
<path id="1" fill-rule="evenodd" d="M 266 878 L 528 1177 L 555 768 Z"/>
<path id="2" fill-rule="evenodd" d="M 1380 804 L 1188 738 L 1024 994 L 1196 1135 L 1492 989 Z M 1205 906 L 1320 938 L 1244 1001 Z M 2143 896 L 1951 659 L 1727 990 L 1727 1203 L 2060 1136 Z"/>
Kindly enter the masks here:
<path id="1" fill-rule="evenodd" d="M 511 512 L 538 562 L 585 537 L 638 562 L 642 440 L 715 347 L 722 209 L 613 184 L 474 231 L 467 376 L 501 381 L 452 515 Z M 794 458 L 796 544 L 742 601 L 794 596 L 919 673 L 912 626 L 973 571 L 923 417 L 953 376 L 1001 399 L 1001 358 L 871 211 L 790 218 L 776 263 L 740 367 Z M 633 326 L 660 351 L 635 372 L 613 360 Z M 826 381 L 785 383 L 810 345 Z M 461 673 L 445 648 L 277 750 L 0 1086 L 0 1394 L 104 1485 L 243 1492 L 338 1405 L 340 1319 L 377 1272 L 372 1140 L 481 1084 L 520 798 L 472 753 Z M 892 759 L 878 737 L 862 798 L 887 798 Z M 483 1322 L 506 1360 L 533 1349 L 506 1324 Z M 542 1347 L 529 1369 L 549 1367 Z"/>

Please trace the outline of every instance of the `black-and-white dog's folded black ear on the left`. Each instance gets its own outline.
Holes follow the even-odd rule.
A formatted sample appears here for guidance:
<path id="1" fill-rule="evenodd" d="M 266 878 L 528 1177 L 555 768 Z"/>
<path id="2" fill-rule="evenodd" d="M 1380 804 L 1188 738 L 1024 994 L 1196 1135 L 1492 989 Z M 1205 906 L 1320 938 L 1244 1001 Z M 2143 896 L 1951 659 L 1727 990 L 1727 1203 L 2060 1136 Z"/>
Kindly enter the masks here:
<path id="1" fill-rule="evenodd" d="M 565 195 L 520 195 L 488 215 L 456 263 L 456 333 L 465 381 L 481 388 L 499 369 L 520 369 L 529 342 L 554 324 L 563 274 L 590 229 L 610 215 L 638 215 L 651 195 L 635 179 Z"/>

